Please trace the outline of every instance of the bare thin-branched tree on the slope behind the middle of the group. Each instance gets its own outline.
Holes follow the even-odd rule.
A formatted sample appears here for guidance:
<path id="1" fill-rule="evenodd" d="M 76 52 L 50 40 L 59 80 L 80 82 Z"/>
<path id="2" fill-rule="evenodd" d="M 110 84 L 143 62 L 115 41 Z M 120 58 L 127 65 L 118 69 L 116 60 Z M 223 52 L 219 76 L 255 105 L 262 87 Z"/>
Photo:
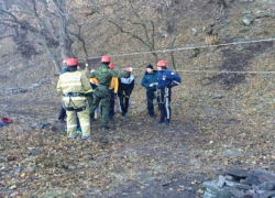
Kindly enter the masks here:
<path id="1" fill-rule="evenodd" d="M 151 10 L 153 13 L 160 13 L 158 21 L 157 19 L 153 19 L 152 15 L 147 15 L 146 12 L 140 8 L 142 4 L 140 1 L 128 0 L 112 7 L 113 15 L 108 19 L 108 22 L 117 26 L 122 34 L 128 34 L 142 43 L 152 52 L 151 54 L 155 57 L 155 61 L 157 61 L 158 55 L 156 50 L 158 45 L 156 38 L 163 35 L 160 30 L 165 29 L 165 32 L 169 34 L 166 34 L 166 36 L 163 35 L 165 40 L 169 41 L 166 48 L 172 50 L 177 38 L 174 15 L 169 13 L 174 1 L 162 0 L 161 4 L 155 4 L 154 1 L 144 1 L 143 3 L 153 3 L 150 8 L 158 8 L 158 10 Z M 170 52 L 170 56 L 173 67 L 176 68 L 173 52 Z"/>

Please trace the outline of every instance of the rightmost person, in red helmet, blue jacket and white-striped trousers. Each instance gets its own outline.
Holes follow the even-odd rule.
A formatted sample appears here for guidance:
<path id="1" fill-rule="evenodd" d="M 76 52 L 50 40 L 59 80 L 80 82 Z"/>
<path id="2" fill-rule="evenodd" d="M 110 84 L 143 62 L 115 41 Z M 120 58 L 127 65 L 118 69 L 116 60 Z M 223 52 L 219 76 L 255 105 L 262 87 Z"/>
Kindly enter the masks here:
<path id="1" fill-rule="evenodd" d="M 180 77 L 167 69 L 167 62 L 161 59 L 157 62 L 157 88 L 161 90 L 161 96 L 158 97 L 158 107 L 161 110 L 161 119 L 156 124 L 169 125 L 170 122 L 170 95 L 172 87 L 175 87 L 182 82 Z"/>

